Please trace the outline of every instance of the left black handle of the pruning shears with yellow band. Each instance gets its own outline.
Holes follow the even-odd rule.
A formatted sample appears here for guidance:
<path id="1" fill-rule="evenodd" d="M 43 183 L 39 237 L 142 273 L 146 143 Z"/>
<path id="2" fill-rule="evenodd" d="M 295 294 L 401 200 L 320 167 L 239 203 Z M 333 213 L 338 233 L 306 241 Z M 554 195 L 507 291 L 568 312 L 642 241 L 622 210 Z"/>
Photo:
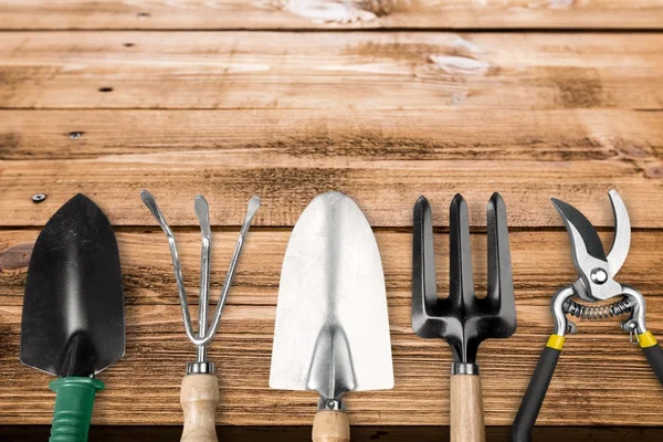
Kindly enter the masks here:
<path id="1" fill-rule="evenodd" d="M 550 379 L 557 367 L 564 340 L 564 336 L 550 335 L 548 344 L 541 352 L 514 420 L 514 442 L 532 441 L 532 429 L 546 398 L 546 391 L 548 391 Z"/>

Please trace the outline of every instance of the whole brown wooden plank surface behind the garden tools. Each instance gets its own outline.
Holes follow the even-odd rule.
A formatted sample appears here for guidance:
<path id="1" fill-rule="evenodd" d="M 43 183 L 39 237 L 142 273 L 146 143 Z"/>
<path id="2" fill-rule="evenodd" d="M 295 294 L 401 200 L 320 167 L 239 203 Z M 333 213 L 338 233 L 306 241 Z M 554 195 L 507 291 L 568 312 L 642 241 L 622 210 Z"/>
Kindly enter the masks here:
<path id="1" fill-rule="evenodd" d="M 633 224 L 619 281 L 643 292 L 663 337 L 662 25 L 661 0 L 0 1 L 0 424 L 51 419 L 50 378 L 18 360 L 22 291 L 40 229 L 76 192 L 116 227 L 127 303 L 127 351 L 101 376 L 97 424 L 180 424 L 194 358 L 143 188 L 176 225 L 190 293 L 194 194 L 211 206 L 214 293 L 248 199 L 263 200 L 210 349 L 219 424 L 312 422 L 316 394 L 267 378 L 290 230 L 332 189 L 375 227 L 391 319 L 397 387 L 349 394 L 354 424 L 449 422 L 449 347 L 410 327 L 420 194 L 441 293 L 453 194 L 469 200 L 477 292 L 485 203 L 493 191 L 507 203 L 518 332 L 478 354 L 488 425 L 511 425 L 552 329 L 550 296 L 575 277 L 550 197 L 609 244 L 607 191 L 619 190 Z M 578 325 L 538 423 L 663 425 L 663 389 L 619 320 Z"/>

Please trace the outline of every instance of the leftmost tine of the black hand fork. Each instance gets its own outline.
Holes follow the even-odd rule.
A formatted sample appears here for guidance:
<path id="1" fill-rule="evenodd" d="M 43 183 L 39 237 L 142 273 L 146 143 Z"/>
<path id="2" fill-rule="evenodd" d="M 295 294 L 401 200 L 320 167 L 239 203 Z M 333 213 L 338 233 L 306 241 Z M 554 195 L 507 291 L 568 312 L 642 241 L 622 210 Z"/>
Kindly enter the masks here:
<path id="1" fill-rule="evenodd" d="M 438 301 L 435 253 L 431 204 L 419 197 L 414 204 L 414 242 L 412 249 L 412 311 L 420 315 Z M 425 304 L 424 304 L 425 303 Z M 427 308 L 428 307 L 428 308 Z"/>

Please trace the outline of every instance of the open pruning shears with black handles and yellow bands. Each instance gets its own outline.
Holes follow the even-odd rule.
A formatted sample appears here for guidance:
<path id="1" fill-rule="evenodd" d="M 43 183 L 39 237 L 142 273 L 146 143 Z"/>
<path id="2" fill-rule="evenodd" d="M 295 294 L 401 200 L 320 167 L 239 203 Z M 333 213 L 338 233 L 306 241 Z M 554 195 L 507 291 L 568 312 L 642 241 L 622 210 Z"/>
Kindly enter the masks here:
<path id="1" fill-rule="evenodd" d="M 614 275 L 621 269 L 629 254 L 631 245 L 631 222 L 621 197 L 615 190 L 610 190 L 610 202 L 614 212 L 614 240 L 610 253 L 606 255 L 601 239 L 589 220 L 572 206 L 552 199 L 552 204 L 565 222 L 571 240 L 573 263 L 579 277 L 575 283 L 558 291 L 550 303 L 555 317 L 555 333 L 534 370 L 529 386 L 514 421 L 514 442 L 532 440 L 532 429 L 546 397 L 546 390 L 555 372 L 566 334 L 573 334 L 576 325 L 567 319 L 571 315 L 582 319 L 604 319 L 612 316 L 629 314 L 622 322 L 622 328 L 629 332 L 631 341 L 636 341 L 659 381 L 663 383 L 663 350 L 651 332 L 646 329 L 644 314 L 644 297 L 635 288 L 614 281 Z M 597 303 L 615 298 L 611 304 L 588 306 L 571 299 Z"/>

